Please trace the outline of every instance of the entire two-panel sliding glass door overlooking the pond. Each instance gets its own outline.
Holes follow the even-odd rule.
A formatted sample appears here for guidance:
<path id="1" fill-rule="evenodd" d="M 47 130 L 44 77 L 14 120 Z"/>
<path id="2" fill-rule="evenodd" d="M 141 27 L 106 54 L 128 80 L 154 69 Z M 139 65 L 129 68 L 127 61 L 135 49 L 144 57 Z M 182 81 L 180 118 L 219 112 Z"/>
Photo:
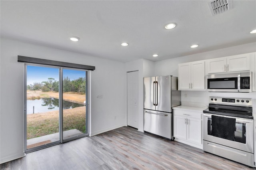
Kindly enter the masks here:
<path id="1" fill-rule="evenodd" d="M 86 136 L 87 71 L 25 67 L 25 152 Z"/>

